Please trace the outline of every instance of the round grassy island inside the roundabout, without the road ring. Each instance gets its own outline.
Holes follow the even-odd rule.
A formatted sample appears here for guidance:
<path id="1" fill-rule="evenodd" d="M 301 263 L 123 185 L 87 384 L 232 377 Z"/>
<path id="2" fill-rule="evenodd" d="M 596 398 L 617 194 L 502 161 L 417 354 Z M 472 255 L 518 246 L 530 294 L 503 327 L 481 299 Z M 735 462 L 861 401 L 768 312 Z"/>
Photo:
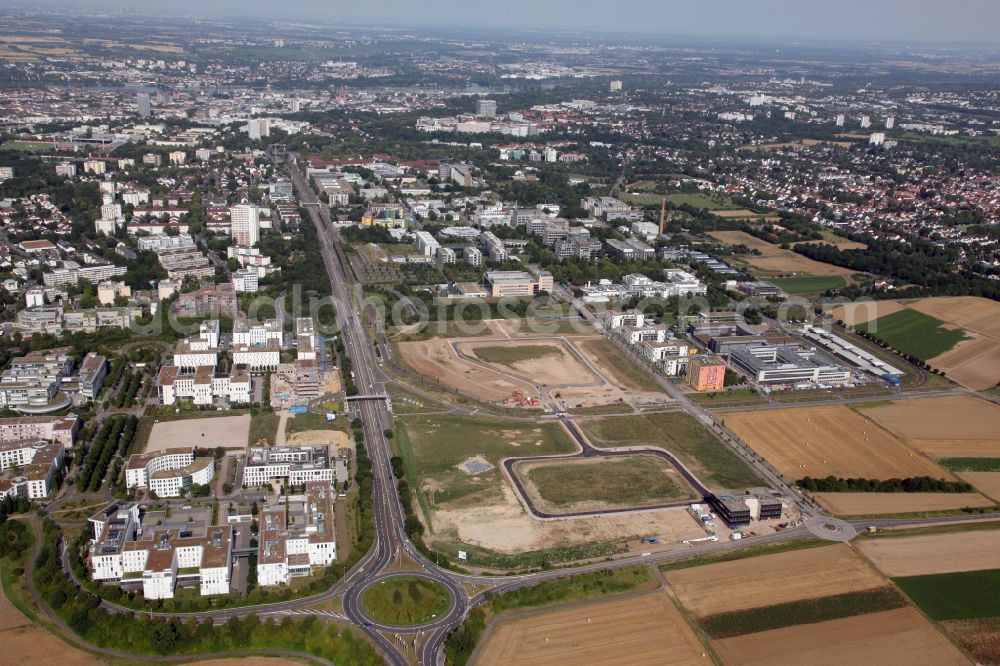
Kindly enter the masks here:
<path id="1" fill-rule="evenodd" d="M 417 576 L 379 581 L 361 599 L 365 612 L 391 625 L 422 624 L 448 611 L 451 595 L 440 583 Z"/>

